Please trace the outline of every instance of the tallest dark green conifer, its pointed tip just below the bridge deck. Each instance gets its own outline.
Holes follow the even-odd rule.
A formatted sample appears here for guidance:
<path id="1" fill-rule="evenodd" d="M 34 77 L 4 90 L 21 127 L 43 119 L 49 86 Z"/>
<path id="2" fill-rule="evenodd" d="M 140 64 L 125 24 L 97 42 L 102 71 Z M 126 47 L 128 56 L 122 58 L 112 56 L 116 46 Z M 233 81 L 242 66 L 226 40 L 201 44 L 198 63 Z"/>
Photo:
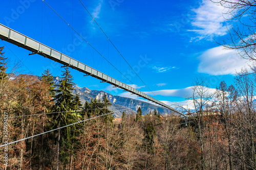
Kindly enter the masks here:
<path id="1" fill-rule="evenodd" d="M 55 120 L 55 128 L 62 127 L 69 124 L 72 124 L 77 121 L 76 114 L 73 113 L 74 106 L 74 95 L 72 94 L 74 90 L 73 77 L 70 74 L 69 67 L 65 68 L 65 71 L 62 71 L 62 77 L 60 78 L 59 85 L 55 85 L 57 89 L 55 90 L 56 94 L 54 95 L 55 105 L 53 106 L 54 112 L 61 112 L 56 114 L 53 119 Z M 67 127 L 58 131 L 57 139 L 57 169 L 58 169 L 58 159 L 61 160 L 64 167 L 69 162 L 69 158 L 72 154 L 73 145 L 71 141 L 74 138 L 75 127 Z M 61 136 L 61 137 L 60 137 Z"/>

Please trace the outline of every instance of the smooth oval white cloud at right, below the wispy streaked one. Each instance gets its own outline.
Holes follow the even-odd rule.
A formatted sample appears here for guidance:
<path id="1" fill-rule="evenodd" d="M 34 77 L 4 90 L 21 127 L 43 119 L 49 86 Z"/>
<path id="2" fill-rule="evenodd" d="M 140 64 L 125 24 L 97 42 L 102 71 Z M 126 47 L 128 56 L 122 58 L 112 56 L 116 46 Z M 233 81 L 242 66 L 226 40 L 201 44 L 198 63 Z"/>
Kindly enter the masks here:
<path id="1" fill-rule="evenodd" d="M 222 46 L 210 48 L 199 56 L 198 72 L 209 75 L 234 75 L 242 67 L 248 67 L 235 50 L 224 50 Z"/>

